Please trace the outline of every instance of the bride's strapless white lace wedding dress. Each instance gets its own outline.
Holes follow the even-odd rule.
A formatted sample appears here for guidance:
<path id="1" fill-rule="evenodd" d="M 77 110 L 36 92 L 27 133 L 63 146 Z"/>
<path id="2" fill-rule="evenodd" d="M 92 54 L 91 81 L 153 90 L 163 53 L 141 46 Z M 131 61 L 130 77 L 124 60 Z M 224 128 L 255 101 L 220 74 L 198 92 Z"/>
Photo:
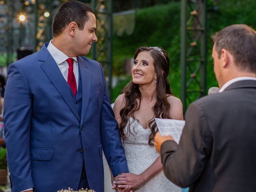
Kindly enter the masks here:
<path id="1" fill-rule="evenodd" d="M 132 122 L 132 118 L 129 121 Z M 130 173 L 140 174 L 148 168 L 159 156 L 156 148 L 148 144 L 150 129 L 144 129 L 138 120 L 124 129 L 126 138 L 123 140 L 124 150 Z M 156 174 L 153 178 L 142 184 L 136 192 L 180 192 L 181 188 L 170 182 L 164 172 Z"/>

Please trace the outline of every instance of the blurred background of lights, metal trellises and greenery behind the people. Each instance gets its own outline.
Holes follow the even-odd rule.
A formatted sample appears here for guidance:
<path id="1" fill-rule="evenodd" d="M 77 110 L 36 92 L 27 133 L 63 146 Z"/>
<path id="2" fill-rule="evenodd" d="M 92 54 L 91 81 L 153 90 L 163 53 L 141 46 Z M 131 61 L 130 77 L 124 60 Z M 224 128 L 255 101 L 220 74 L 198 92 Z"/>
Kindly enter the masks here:
<path id="1" fill-rule="evenodd" d="M 52 39 L 52 19 L 64 0 L 0 0 L 1 114 L 8 66 Z M 210 36 L 231 24 L 256 29 L 256 0 L 82 0 L 97 17 L 96 42 L 89 58 L 104 68 L 112 102 L 131 80 L 135 50 L 159 46 L 170 57 L 172 92 L 184 112 L 194 100 L 218 86 Z M 3 123 L 0 116 L 0 138 Z M 4 146 L 4 139 L 0 139 Z M 6 184 L 6 149 L 0 148 L 0 185 Z M 4 174 L 7 174 L 5 171 Z M 1 180 L 3 178 L 4 181 Z M 7 188 L 3 189 L 8 191 Z"/>

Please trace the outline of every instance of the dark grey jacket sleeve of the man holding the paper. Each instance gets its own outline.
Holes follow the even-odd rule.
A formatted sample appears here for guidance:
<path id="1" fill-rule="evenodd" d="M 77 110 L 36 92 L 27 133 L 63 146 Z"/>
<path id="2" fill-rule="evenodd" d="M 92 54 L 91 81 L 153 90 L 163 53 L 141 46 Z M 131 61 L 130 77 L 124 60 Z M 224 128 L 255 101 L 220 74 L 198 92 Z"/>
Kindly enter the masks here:
<path id="1" fill-rule="evenodd" d="M 203 110 L 191 104 L 180 143 L 168 140 L 161 146 L 164 174 L 174 184 L 188 187 L 204 171 L 212 149 L 212 139 Z"/>

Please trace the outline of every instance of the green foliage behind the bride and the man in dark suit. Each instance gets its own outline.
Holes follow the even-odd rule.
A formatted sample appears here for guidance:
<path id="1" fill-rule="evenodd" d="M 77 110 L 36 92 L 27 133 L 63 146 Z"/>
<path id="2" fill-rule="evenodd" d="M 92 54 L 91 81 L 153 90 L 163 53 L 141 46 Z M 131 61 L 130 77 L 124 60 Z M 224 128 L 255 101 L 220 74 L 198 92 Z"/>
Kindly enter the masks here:
<path id="1" fill-rule="evenodd" d="M 212 65 L 212 40 L 210 36 L 231 24 L 247 24 L 256 29 L 256 3 L 254 0 L 208 0 L 208 63 L 207 90 L 218 86 Z M 174 95 L 180 98 L 180 2 L 172 1 L 137 10 L 136 28 L 130 36 L 114 36 L 113 41 L 113 75 L 124 73 L 124 60 L 133 58 L 140 46 L 163 47 L 170 57 L 169 80 Z M 112 102 L 129 82 L 121 80 L 113 89 Z"/>

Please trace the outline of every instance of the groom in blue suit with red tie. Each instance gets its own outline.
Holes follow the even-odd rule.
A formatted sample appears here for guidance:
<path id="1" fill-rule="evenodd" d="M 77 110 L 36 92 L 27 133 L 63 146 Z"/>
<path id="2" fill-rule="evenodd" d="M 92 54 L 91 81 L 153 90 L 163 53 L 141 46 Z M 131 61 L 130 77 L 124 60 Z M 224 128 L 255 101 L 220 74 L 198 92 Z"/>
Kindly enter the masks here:
<path id="1" fill-rule="evenodd" d="M 128 172 L 102 67 L 83 56 L 95 30 L 89 6 L 65 2 L 53 40 L 10 65 L 4 128 L 12 192 L 103 192 L 102 150 L 113 176 Z"/>

